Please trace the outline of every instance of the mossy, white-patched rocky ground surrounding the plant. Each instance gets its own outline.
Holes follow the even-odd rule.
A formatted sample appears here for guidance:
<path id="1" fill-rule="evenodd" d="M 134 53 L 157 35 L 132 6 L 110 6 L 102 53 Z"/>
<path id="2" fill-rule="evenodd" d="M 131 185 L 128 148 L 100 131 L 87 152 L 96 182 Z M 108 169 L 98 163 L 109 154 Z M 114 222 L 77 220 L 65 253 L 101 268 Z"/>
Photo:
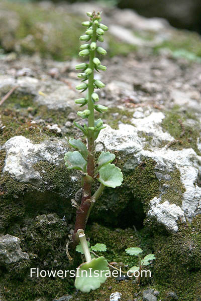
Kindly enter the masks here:
<path id="1" fill-rule="evenodd" d="M 32 18 L 25 14 L 30 8 Z M 87 234 L 92 243 L 106 243 L 106 258 L 123 268 L 135 264 L 125 248 L 153 252 L 152 277 L 141 286 L 110 278 L 89 294 L 75 291 L 73 279 L 30 277 L 30 267 L 69 268 L 65 244 L 81 178 L 65 168 L 63 157 L 69 137 L 84 141 L 73 126 L 79 120 L 74 104 L 79 42 L 70 35 L 64 41 L 63 30 L 55 40 L 51 24 L 63 29 L 63 22 L 73 22 L 76 37 L 90 8 L 3 2 L 0 19 L 7 22 L 9 16 L 12 22 L 0 33 L 1 99 L 13 93 L 0 106 L 1 301 L 201 299 L 201 39 L 165 20 L 102 10 L 110 25 L 105 47 L 111 50 L 103 61 L 107 72 L 96 77 L 106 83 L 98 93 L 109 112 L 96 150 L 115 152 L 124 183 L 105 190 Z M 34 18 L 41 19 L 35 26 Z M 76 267 L 80 256 L 71 253 Z"/>

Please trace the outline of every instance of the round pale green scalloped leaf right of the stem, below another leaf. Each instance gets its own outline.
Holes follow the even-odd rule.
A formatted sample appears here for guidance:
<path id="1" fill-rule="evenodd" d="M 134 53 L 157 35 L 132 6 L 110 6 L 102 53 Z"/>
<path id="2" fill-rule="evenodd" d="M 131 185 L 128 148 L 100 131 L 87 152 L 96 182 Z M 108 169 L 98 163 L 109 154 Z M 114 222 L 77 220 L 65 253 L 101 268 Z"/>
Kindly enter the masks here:
<path id="1" fill-rule="evenodd" d="M 120 186 L 123 181 L 121 169 L 114 164 L 104 165 L 99 170 L 98 181 L 104 186 L 115 188 Z"/>

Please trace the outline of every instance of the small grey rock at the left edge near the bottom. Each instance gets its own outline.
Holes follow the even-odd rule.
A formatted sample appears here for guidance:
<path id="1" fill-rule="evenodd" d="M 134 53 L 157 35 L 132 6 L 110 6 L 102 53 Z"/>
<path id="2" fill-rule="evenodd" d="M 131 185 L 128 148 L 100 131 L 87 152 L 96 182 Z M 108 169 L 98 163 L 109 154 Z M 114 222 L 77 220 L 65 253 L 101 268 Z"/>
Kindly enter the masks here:
<path id="1" fill-rule="evenodd" d="M 22 260 L 28 260 L 29 255 L 22 252 L 20 238 L 10 234 L 0 237 L 0 263 L 10 264 Z"/>

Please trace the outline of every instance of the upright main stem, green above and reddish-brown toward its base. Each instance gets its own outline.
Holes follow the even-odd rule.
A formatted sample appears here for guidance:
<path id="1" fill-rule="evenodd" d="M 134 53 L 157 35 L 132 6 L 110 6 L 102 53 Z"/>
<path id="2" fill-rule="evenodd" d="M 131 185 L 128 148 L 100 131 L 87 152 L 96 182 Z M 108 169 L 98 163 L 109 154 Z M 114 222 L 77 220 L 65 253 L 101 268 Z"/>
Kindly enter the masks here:
<path id="1" fill-rule="evenodd" d="M 93 35 L 91 38 L 91 43 L 96 42 L 96 25 L 93 24 Z M 94 108 L 93 102 L 91 99 L 91 94 L 94 91 L 93 81 L 94 81 L 94 64 L 93 58 L 95 57 L 95 50 L 90 50 L 89 54 L 89 68 L 92 70 L 91 74 L 88 77 L 88 109 L 90 110 L 90 115 L 88 116 L 88 126 L 94 126 Z M 88 157 L 87 157 L 87 174 L 92 178 L 94 176 L 94 157 L 95 157 L 95 144 L 94 144 L 94 132 L 92 130 L 88 130 L 87 134 L 87 147 L 88 147 Z M 85 229 L 86 221 L 88 219 L 88 211 L 91 206 L 90 201 L 87 201 L 91 198 L 91 186 L 92 181 L 89 181 L 87 177 L 83 178 L 83 194 L 81 199 L 80 210 L 76 211 L 76 221 L 75 221 L 75 229 L 72 236 L 73 247 L 75 247 L 78 243 L 77 238 L 77 230 Z"/>

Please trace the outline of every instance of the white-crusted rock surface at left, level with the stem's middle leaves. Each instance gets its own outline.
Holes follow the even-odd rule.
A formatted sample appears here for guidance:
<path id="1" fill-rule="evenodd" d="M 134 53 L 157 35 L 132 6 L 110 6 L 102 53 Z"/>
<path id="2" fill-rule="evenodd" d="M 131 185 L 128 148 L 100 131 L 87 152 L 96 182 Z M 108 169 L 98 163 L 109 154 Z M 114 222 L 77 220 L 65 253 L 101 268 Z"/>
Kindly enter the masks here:
<path id="1" fill-rule="evenodd" d="M 3 172 L 21 182 L 40 185 L 42 177 L 35 171 L 33 165 L 40 161 L 59 164 L 67 152 L 67 142 L 55 139 L 34 144 L 24 136 L 15 136 L 4 145 L 7 156 Z"/>

